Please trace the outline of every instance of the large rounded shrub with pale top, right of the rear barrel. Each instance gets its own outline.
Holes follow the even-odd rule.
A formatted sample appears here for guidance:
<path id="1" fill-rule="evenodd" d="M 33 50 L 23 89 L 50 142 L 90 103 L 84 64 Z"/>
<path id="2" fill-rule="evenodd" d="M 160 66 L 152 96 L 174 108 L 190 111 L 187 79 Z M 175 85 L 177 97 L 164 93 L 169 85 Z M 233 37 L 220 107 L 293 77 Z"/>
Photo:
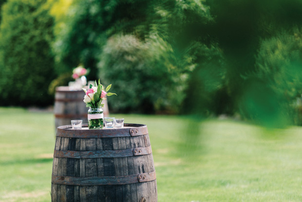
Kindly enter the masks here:
<path id="1" fill-rule="evenodd" d="M 178 112 L 187 76 L 179 71 L 169 43 L 158 36 L 140 41 L 117 35 L 107 41 L 100 57 L 101 82 L 113 84 L 108 101 L 119 112 Z"/>

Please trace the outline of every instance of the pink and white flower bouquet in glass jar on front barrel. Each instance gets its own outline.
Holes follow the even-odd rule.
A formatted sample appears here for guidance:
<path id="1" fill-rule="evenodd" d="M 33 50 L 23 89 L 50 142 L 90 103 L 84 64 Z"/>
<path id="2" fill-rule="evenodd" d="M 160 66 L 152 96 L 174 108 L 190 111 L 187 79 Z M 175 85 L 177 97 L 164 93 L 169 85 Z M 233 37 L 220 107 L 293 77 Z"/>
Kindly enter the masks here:
<path id="1" fill-rule="evenodd" d="M 103 100 L 106 100 L 105 96 L 116 95 L 115 93 L 107 93 L 110 90 L 111 84 L 104 90 L 104 86 L 98 80 L 98 84 L 94 81 L 94 85 L 90 84 L 89 89 L 82 88 L 85 92 L 84 102 L 88 110 L 88 128 L 89 129 L 102 129 L 103 128 Z"/>

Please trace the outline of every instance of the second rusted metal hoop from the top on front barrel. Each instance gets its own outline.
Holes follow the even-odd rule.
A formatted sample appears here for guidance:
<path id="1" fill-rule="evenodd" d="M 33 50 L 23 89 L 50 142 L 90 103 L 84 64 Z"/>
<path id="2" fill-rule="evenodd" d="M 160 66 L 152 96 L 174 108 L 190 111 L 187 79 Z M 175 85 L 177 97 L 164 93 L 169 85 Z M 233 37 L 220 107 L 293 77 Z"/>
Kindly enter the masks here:
<path id="1" fill-rule="evenodd" d="M 151 145 L 123 150 L 94 150 L 94 151 L 54 151 L 55 158 L 71 159 L 95 159 L 95 158 L 119 158 L 151 154 Z"/>

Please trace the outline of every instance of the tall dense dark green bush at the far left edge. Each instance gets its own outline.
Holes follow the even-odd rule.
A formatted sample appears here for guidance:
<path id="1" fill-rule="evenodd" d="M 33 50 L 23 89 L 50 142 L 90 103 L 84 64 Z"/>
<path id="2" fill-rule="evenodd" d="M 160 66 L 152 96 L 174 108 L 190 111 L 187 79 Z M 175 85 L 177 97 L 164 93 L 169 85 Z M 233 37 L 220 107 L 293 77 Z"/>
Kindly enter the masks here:
<path id="1" fill-rule="evenodd" d="M 53 18 L 46 0 L 9 0 L 0 27 L 0 104 L 47 105 L 54 79 Z"/>

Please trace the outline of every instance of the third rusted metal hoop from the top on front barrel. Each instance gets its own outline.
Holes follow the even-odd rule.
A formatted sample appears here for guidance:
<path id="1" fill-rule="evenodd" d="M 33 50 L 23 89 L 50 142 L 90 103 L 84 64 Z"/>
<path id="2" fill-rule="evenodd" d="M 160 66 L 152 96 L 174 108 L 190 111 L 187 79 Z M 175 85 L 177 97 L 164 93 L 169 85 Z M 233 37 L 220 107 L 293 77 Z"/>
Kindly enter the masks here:
<path id="1" fill-rule="evenodd" d="M 132 184 L 139 182 L 150 182 L 156 180 L 155 171 L 151 173 L 142 173 L 127 176 L 103 176 L 103 177 L 69 177 L 69 176 L 52 176 L 53 184 L 61 185 L 118 185 L 118 184 Z"/>

